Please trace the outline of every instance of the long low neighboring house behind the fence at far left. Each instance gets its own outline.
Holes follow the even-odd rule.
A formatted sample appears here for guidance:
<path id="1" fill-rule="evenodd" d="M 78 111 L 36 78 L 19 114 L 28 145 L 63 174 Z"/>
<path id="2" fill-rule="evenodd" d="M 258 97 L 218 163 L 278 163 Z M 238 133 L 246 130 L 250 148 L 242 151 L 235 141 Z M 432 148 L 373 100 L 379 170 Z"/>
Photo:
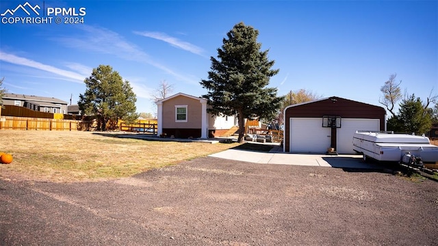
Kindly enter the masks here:
<path id="1" fill-rule="evenodd" d="M 67 113 L 67 102 L 44 96 L 6 93 L 3 96 L 3 105 L 20 106 L 46 113 Z"/>

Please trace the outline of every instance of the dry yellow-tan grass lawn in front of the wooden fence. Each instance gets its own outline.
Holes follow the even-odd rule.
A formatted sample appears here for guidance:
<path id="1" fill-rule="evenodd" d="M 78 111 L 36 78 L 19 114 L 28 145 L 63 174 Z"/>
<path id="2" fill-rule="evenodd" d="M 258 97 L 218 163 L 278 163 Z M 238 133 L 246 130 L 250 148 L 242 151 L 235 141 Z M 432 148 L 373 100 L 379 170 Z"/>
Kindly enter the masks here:
<path id="1" fill-rule="evenodd" d="M 110 135 L 110 134 L 109 134 Z M 0 178 L 73 182 L 132 176 L 233 148 L 238 143 L 146 141 L 81 131 L 0 131 Z"/>

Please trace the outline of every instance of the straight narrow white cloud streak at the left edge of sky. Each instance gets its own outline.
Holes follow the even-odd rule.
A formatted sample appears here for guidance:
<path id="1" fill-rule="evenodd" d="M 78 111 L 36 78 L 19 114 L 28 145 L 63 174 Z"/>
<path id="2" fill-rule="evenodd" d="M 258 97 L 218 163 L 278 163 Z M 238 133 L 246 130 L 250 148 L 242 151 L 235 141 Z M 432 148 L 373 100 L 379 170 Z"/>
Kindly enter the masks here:
<path id="1" fill-rule="evenodd" d="M 51 72 L 76 83 L 83 83 L 83 79 L 85 78 L 83 74 L 79 74 L 77 72 L 55 68 L 54 66 L 42 64 L 38 61 L 27 59 L 25 57 L 19 57 L 14 54 L 5 53 L 3 51 L 0 51 L 0 60 L 19 66 L 27 66 L 30 68 L 36 68 L 38 70 Z"/>

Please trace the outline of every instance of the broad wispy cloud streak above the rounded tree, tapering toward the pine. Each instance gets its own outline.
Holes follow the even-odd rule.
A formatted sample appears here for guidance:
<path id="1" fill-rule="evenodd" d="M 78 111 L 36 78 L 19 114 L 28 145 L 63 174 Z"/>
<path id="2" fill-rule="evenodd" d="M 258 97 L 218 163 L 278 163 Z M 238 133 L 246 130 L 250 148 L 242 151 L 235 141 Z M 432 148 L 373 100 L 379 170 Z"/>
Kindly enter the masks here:
<path id="1" fill-rule="evenodd" d="M 75 49 L 94 51 L 98 53 L 105 53 L 115 55 L 128 61 L 139 61 L 144 64 L 149 64 L 172 75 L 176 79 L 186 81 L 188 83 L 198 83 L 189 77 L 185 77 L 172 69 L 159 64 L 154 61 L 147 53 L 142 51 L 136 44 L 132 44 L 125 40 L 123 36 L 109 29 L 101 27 L 92 27 L 83 25 L 81 27 L 82 33 L 75 36 L 57 37 L 55 41 L 62 42 L 65 46 Z"/>

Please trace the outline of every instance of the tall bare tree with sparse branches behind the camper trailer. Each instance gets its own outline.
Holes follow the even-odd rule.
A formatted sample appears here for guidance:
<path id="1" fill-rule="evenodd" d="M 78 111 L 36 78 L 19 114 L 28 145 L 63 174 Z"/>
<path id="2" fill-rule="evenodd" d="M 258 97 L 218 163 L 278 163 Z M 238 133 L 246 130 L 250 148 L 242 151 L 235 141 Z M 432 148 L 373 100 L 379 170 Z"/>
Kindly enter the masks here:
<path id="1" fill-rule="evenodd" d="M 394 106 L 398 100 L 402 99 L 402 92 L 400 90 L 400 84 L 402 81 L 396 82 L 396 77 L 397 74 L 395 73 L 389 75 L 389 79 L 385 82 L 385 85 L 381 87 L 383 98 L 378 100 L 382 105 L 385 105 L 386 109 L 393 116 L 396 116 L 396 113 L 394 113 Z"/>

